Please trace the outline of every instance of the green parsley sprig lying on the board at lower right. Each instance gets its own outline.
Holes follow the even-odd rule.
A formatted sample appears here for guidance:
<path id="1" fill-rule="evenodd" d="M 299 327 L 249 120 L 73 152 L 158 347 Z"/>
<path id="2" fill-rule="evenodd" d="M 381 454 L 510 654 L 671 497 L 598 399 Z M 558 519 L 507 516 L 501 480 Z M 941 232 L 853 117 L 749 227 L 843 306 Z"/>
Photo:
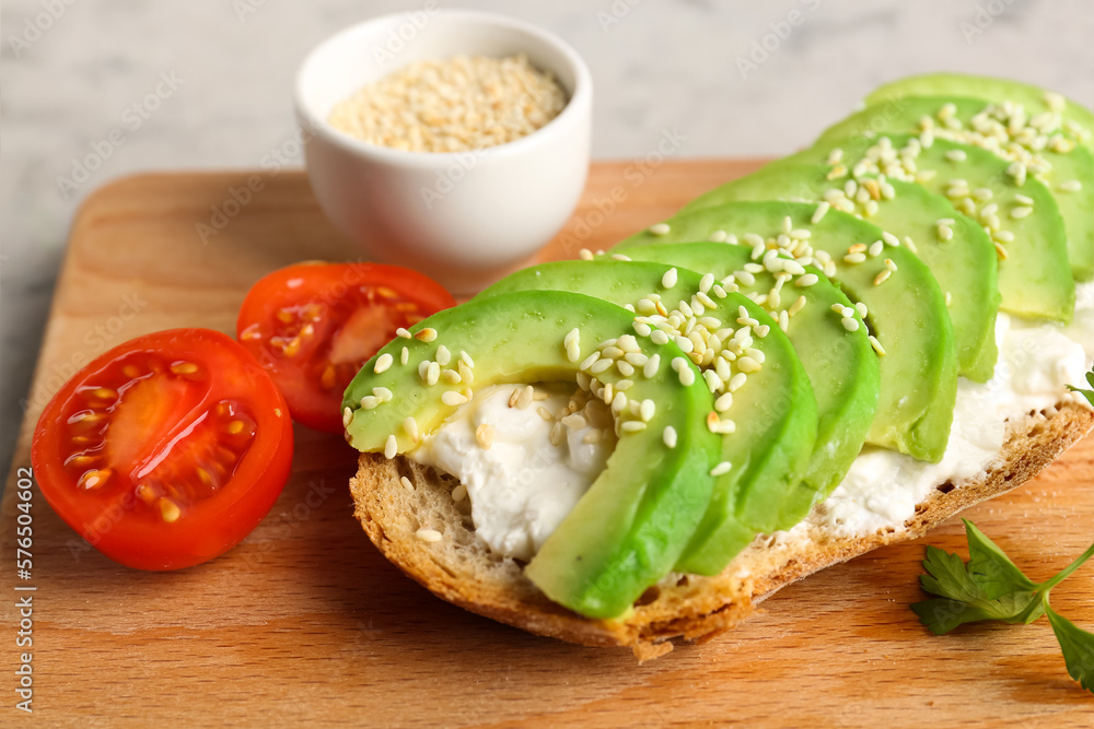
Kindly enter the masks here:
<path id="1" fill-rule="evenodd" d="M 1094 376 L 1091 384 L 1094 385 Z M 1094 398 L 1094 392 L 1087 397 Z M 919 580 L 927 592 L 939 597 L 911 605 L 920 622 L 935 635 L 943 635 L 965 623 L 998 620 L 1029 624 L 1048 615 L 1068 673 L 1094 693 L 1094 634 L 1080 628 L 1048 603 L 1049 591 L 1094 556 L 1094 544 L 1056 577 L 1034 583 L 971 521 L 964 521 L 968 563 L 936 546 L 927 548 L 923 567 L 928 574 L 920 575 Z"/>

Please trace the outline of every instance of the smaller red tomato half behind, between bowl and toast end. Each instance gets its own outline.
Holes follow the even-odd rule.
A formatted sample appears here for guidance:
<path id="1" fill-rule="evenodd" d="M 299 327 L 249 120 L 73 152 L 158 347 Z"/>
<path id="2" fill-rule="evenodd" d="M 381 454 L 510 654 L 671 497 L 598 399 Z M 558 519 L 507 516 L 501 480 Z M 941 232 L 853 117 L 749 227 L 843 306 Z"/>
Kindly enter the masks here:
<path id="1" fill-rule="evenodd" d="M 341 433 L 342 391 L 399 327 L 456 302 L 432 279 L 380 263 L 296 263 L 260 279 L 240 342 L 274 376 L 298 422 Z"/>

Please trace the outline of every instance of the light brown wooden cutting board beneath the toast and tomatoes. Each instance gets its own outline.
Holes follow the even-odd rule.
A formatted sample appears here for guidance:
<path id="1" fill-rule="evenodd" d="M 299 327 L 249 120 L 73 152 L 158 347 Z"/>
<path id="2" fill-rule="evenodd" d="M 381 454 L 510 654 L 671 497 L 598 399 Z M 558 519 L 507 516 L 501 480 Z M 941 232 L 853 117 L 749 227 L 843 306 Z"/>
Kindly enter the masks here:
<path id="1" fill-rule="evenodd" d="M 607 247 L 758 164 L 597 163 L 573 221 L 540 258 Z M 124 179 L 93 195 L 72 226 L 0 517 L 8 595 L 33 595 L 35 718 L 81 727 L 168 718 L 596 727 L 1094 720 L 1094 696 L 1068 677 L 1045 621 L 934 637 L 908 610 L 923 597 L 924 541 L 964 549 L 956 520 L 924 541 L 791 586 L 729 634 L 639 666 L 624 650 L 535 637 L 434 599 L 384 561 L 351 517 L 354 454 L 341 438 L 306 428 L 296 431 L 294 473 L 280 501 L 226 555 L 172 574 L 120 567 L 86 548 L 35 490 L 33 576 L 16 580 L 15 473 L 30 466 L 40 407 L 75 367 L 158 329 L 234 332 L 237 307 L 260 275 L 302 259 L 354 257 L 303 174 L 259 175 L 254 199 L 229 202 L 249 176 Z M 202 240 L 199 224 L 217 233 Z M 1044 579 L 1094 539 L 1092 484 L 1087 437 L 1036 481 L 968 516 Z M 1057 609 L 1086 627 L 1094 627 L 1092 574 L 1086 567 L 1054 592 Z M 36 590 L 13 592 L 15 583 Z M 14 647 L 14 602 L 3 608 L 0 724 L 22 716 L 12 670 L 26 649 Z"/>

